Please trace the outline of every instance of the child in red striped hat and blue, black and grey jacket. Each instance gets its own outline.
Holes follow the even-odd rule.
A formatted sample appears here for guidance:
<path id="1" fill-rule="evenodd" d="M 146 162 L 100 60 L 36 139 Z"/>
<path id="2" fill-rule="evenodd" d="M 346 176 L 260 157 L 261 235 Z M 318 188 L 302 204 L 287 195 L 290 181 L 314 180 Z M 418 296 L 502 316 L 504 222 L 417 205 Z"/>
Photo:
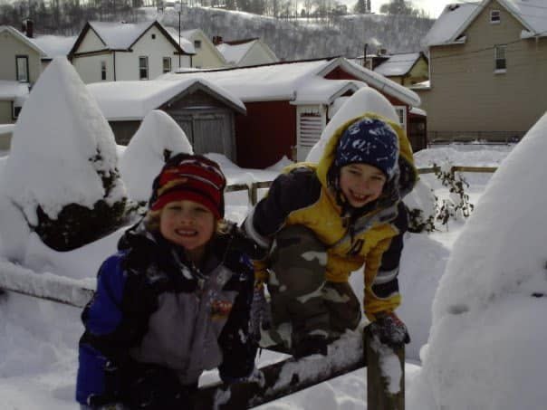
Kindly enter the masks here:
<path id="1" fill-rule="evenodd" d="M 148 214 L 102 263 L 82 313 L 82 408 L 192 408 L 204 370 L 254 374 L 253 267 L 222 219 L 225 186 L 215 162 L 187 154 L 154 180 Z"/>

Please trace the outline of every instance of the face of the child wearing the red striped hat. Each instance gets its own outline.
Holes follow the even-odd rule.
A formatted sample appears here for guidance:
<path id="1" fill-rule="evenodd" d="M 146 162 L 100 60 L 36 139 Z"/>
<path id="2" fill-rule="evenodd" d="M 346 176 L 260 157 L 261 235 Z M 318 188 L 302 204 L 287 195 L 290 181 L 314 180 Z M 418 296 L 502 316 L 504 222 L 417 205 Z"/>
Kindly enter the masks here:
<path id="1" fill-rule="evenodd" d="M 187 251 L 199 251 L 215 233 L 215 215 L 194 201 L 169 202 L 159 217 L 159 232 Z"/>

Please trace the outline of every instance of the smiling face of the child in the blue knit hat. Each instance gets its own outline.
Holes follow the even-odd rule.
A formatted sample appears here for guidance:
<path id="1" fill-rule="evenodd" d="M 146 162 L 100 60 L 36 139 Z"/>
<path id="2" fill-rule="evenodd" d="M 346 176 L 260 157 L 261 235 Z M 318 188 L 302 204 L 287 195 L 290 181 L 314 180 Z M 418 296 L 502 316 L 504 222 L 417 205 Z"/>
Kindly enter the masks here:
<path id="1" fill-rule="evenodd" d="M 341 192 L 356 208 L 378 199 L 386 180 L 379 168 L 368 164 L 350 164 L 340 170 Z"/>

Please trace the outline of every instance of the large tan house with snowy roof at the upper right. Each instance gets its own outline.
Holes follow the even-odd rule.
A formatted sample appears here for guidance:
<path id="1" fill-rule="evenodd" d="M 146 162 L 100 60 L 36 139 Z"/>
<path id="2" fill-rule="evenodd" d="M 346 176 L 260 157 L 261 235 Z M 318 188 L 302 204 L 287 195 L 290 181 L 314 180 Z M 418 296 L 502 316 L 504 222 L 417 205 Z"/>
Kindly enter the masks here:
<path id="1" fill-rule="evenodd" d="M 547 110 L 544 0 L 447 5 L 425 41 L 430 140 L 518 139 Z"/>

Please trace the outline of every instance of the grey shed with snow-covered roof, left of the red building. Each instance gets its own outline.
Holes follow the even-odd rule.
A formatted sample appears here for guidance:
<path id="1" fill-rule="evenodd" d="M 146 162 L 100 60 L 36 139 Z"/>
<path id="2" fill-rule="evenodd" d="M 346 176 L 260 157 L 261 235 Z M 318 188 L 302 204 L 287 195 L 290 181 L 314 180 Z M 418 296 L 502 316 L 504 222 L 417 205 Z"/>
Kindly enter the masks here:
<path id="1" fill-rule="evenodd" d="M 118 144 L 128 144 L 151 110 L 164 110 L 185 131 L 197 154 L 216 152 L 235 161 L 234 118 L 245 116 L 245 105 L 209 81 L 95 82 L 87 87 Z"/>

